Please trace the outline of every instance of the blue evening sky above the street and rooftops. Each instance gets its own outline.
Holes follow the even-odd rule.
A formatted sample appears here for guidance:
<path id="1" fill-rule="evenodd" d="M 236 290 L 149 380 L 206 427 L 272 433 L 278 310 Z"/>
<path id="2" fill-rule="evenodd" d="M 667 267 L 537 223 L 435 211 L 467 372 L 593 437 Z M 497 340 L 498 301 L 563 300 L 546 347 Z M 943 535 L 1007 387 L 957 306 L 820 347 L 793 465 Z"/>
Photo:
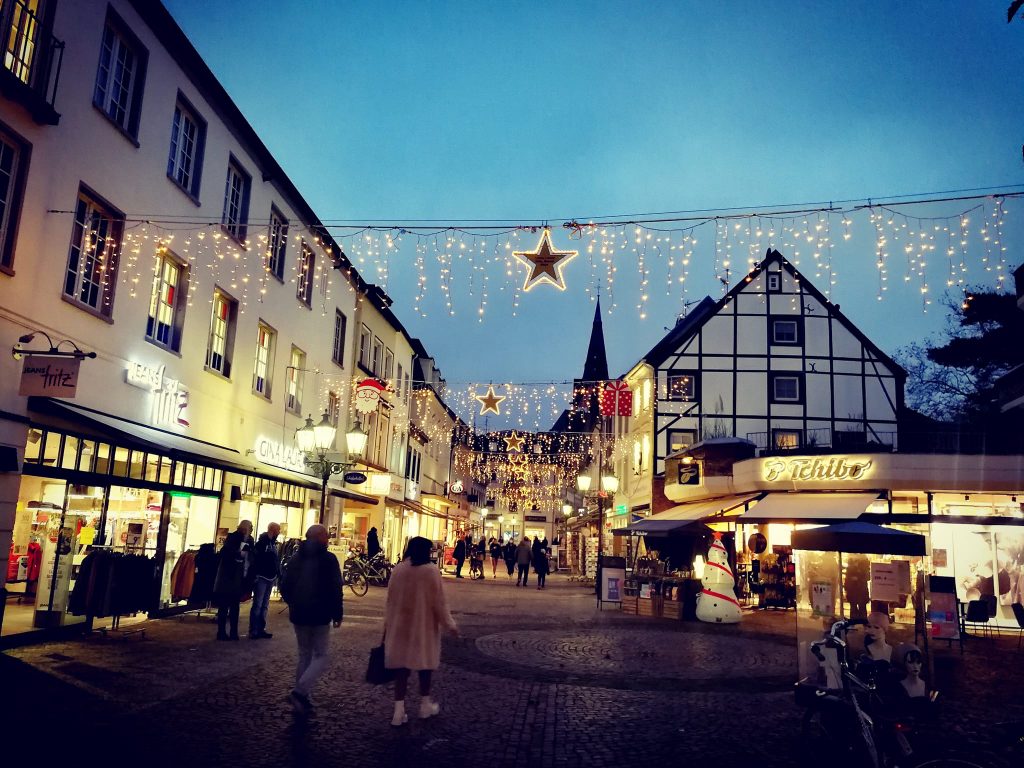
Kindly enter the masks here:
<path id="1" fill-rule="evenodd" d="M 1024 24 L 1007 25 L 1008 0 L 165 2 L 324 220 L 550 220 L 565 248 L 580 245 L 557 228 L 569 218 L 1024 182 Z M 1024 205 L 1011 200 L 1007 211 L 1012 269 Z M 889 352 L 940 331 L 945 241 L 928 267 L 937 271 L 926 313 L 902 253 L 877 301 L 867 214 L 851 215 L 847 242 L 838 221 L 833 298 L 844 311 Z M 532 248 L 537 237 L 520 243 Z M 713 225 L 697 240 L 687 297 L 720 296 Z M 456 269 L 450 316 L 432 252 L 427 316 L 414 309 L 415 243 L 392 257 L 388 288 L 450 384 L 580 375 L 597 279 L 585 256 L 566 268 L 566 292 L 537 288 L 515 316 L 522 270 L 506 282 L 493 265 L 477 323 L 478 276 L 470 295 L 468 271 Z M 984 250 L 972 241 L 972 284 L 991 283 Z M 746 246 L 737 251 L 733 280 L 746 264 Z M 806 251 L 801 263 L 812 271 Z M 615 257 L 615 306 L 604 316 L 612 375 L 681 309 L 664 265 L 652 256 L 646 265 L 640 319 L 637 259 Z M 375 280 L 372 265 L 365 271 Z"/>

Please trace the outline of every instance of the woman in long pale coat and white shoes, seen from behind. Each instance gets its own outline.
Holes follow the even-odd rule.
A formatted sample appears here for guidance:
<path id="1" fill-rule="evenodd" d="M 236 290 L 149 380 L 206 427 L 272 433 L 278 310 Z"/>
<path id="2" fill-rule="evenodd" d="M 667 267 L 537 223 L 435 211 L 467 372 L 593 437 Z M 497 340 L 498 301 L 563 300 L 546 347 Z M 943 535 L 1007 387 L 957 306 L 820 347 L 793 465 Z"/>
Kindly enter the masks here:
<path id="1" fill-rule="evenodd" d="M 423 566 L 427 567 L 423 567 Z M 440 573 L 429 567 L 430 540 L 414 537 L 406 555 L 391 571 L 384 604 L 384 666 L 395 670 L 394 713 L 391 725 L 409 722 L 406 692 L 410 672 L 420 678 L 420 718 L 440 712 L 430 697 L 434 670 L 440 666 L 441 629 L 458 636 L 459 628 L 449 611 Z"/>

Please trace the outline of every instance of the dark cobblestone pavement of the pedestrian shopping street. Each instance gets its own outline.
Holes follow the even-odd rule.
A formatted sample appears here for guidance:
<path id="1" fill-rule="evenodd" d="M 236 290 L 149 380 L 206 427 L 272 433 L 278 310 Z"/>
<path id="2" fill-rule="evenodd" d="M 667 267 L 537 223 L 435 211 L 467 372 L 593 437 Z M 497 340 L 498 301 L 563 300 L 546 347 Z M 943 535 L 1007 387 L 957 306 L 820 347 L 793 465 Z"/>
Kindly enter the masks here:
<path id="1" fill-rule="evenodd" d="M 294 636 L 274 603 L 266 642 L 218 643 L 212 622 L 188 616 L 147 623 L 145 639 L 0 655 L 4 754 L 155 767 L 796 763 L 792 614 L 708 626 L 598 610 L 592 592 L 558 577 L 543 592 L 503 578 L 444 584 L 462 635 L 444 641 L 437 718 L 392 728 L 390 690 L 362 681 L 383 613 L 384 590 L 372 589 L 346 597 L 305 723 L 286 701 Z M 1024 718 L 1022 663 L 1016 637 L 936 651 L 951 740 Z"/>

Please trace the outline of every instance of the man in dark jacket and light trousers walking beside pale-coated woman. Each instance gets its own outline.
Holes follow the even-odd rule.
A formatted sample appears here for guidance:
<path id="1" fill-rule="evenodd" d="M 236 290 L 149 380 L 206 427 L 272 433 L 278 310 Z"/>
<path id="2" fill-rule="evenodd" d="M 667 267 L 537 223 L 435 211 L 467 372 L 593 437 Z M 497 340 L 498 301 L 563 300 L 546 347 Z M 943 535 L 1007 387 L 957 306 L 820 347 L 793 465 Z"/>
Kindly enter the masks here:
<path id="1" fill-rule="evenodd" d="M 310 525 L 281 584 L 299 646 L 295 688 L 289 695 L 298 715 L 307 715 L 312 709 L 309 691 L 327 668 L 330 625 L 340 627 L 344 612 L 341 566 L 327 551 L 328 539 L 326 527 Z"/>

